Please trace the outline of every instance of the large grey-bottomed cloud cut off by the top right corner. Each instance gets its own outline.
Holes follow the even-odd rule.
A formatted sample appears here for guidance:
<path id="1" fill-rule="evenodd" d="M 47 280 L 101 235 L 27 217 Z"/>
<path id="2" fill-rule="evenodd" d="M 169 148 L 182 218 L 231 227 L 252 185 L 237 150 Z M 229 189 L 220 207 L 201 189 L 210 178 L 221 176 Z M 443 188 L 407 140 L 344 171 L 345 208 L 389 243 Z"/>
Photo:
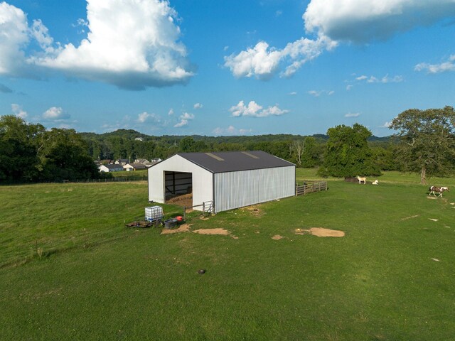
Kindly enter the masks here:
<path id="1" fill-rule="evenodd" d="M 306 31 L 332 40 L 368 43 L 455 14 L 454 0 L 311 0 L 304 13 Z"/>

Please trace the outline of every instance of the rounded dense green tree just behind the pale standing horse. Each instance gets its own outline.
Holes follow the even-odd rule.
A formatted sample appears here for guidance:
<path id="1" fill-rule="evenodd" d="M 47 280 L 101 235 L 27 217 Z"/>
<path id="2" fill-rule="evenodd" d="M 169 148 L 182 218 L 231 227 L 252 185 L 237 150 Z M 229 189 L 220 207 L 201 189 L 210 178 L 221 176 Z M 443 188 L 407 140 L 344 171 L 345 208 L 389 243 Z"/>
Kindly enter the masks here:
<path id="1" fill-rule="evenodd" d="M 327 131 L 328 141 L 323 166 L 319 173 L 324 176 L 351 177 L 355 175 L 380 175 L 374 163 L 367 139 L 371 136 L 365 126 L 336 126 Z"/>

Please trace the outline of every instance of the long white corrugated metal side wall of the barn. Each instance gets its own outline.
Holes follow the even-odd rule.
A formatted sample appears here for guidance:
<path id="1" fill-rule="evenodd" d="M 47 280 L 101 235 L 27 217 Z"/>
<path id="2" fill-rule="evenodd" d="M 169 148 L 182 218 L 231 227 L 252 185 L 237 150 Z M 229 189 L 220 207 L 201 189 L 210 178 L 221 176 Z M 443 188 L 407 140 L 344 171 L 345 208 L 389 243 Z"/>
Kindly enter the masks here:
<path id="1" fill-rule="evenodd" d="M 295 166 L 215 174 L 215 212 L 295 195 Z"/>

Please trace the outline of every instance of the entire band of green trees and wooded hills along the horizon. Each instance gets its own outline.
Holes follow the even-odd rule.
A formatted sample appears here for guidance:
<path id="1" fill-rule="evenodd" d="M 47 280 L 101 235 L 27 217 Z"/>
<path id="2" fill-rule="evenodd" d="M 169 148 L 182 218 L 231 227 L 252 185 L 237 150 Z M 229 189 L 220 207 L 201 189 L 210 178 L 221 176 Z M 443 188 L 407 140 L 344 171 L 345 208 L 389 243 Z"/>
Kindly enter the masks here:
<path id="1" fill-rule="evenodd" d="M 449 175 L 455 166 L 455 114 L 452 107 L 409 109 L 390 126 L 395 134 L 377 138 L 361 124 L 338 125 L 326 135 L 148 136 L 131 129 L 106 134 L 73 129 L 46 130 L 14 116 L 0 117 L 0 180 L 82 180 L 99 178 L 94 161 L 165 159 L 178 152 L 262 150 L 319 168 L 321 176 L 380 175 L 418 171 Z M 109 175 L 104 175 L 109 176 Z"/>

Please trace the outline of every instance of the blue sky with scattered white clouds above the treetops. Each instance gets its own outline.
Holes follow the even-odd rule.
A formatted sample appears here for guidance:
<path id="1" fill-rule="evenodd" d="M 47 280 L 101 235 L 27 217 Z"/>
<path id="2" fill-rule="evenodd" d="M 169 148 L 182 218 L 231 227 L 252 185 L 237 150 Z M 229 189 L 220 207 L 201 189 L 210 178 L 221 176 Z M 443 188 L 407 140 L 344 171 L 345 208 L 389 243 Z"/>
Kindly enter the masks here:
<path id="1" fill-rule="evenodd" d="M 0 1 L 0 114 L 103 133 L 376 136 L 455 106 L 455 0 Z"/>

